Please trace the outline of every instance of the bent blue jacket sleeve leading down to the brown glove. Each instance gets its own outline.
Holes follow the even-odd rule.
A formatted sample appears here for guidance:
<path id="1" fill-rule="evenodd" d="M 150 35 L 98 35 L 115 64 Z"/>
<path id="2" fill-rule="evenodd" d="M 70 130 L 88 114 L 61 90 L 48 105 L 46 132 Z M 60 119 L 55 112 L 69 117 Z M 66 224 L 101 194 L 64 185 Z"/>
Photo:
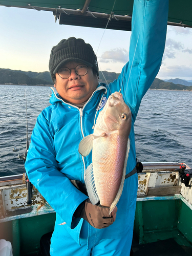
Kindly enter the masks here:
<path id="1" fill-rule="evenodd" d="M 39 193 L 53 207 L 63 222 L 74 228 L 78 223 L 77 220 L 72 223 L 73 214 L 78 205 L 88 197 L 58 170 L 54 137 L 48 121 L 49 115 L 45 109 L 37 118 L 25 168 L 29 180 Z"/>

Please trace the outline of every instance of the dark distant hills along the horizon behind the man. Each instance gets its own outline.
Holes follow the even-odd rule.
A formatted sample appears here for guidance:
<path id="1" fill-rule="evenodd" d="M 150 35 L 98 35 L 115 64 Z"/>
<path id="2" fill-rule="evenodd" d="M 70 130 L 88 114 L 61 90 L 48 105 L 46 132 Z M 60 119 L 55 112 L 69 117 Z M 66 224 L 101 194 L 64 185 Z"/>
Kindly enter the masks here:
<path id="1" fill-rule="evenodd" d="M 119 74 L 115 72 L 102 71 L 101 73 L 101 71 L 99 71 L 100 82 L 106 82 L 103 75 L 108 83 L 113 82 L 119 76 Z M 177 79 L 178 78 L 170 79 L 170 80 L 177 80 Z M 178 80 L 184 81 L 182 79 L 178 79 Z M 48 71 L 38 73 L 38 72 L 32 72 L 32 71 L 0 69 L 0 84 L 26 84 L 29 86 L 37 86 L 37 85 L 53 86 L 53 81 Z M 179 84 L 179 83 L 175 84 L 170 81 L 165 82 L 163 80 L 155 78 L 150 89 L 192 91 L 192 83 L 191 83 L 191 86 L 185 86 L 183 84 Z"/>

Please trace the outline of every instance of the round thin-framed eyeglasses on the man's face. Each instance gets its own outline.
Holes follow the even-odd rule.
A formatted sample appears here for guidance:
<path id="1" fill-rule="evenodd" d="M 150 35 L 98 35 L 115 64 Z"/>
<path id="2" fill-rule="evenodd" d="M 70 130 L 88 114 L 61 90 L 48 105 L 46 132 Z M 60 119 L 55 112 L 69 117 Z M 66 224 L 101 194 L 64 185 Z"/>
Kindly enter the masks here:
<path id="1" fill-rule="evenodd" d="M 88 73 L 88 66 L 84 64 L 77 65 L 75 68 L 72 69 L 74 69 L 75 73 L 79 76 L 84 76 Z M 64 67 L 59 69 L 57 73 L 62 79 L 67 79 L 70 77 L 72 69 Z"/>

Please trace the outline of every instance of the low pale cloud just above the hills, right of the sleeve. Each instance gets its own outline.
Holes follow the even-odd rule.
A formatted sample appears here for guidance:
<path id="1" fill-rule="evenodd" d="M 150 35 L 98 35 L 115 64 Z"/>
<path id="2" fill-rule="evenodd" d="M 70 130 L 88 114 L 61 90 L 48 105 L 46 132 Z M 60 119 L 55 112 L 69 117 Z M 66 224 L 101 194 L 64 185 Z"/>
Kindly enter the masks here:
<path id="1" fill-rule="evenodd" d="M 192 74 L 192 67 L 188 67 L 188 66 L 179 66 L 179 65 L 175 65 L 175 66 L 162 66 L 158 76 L 161 77 L 191 77 Z"/>

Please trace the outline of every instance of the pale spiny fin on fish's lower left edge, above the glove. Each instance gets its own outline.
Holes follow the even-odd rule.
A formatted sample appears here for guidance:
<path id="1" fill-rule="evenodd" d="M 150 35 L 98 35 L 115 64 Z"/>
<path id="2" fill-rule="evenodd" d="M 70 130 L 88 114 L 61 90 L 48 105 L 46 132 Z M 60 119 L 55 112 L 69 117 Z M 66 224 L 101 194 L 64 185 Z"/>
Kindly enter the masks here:
<path id="1" fill-rule="evenodd" d="M 91 163 L 86 170 L 86 188 L 88 196 L 93 205 L 99 202 L 99 197 L 95 187 L 95 179 L 93 174 L 93 164 Z"/>

